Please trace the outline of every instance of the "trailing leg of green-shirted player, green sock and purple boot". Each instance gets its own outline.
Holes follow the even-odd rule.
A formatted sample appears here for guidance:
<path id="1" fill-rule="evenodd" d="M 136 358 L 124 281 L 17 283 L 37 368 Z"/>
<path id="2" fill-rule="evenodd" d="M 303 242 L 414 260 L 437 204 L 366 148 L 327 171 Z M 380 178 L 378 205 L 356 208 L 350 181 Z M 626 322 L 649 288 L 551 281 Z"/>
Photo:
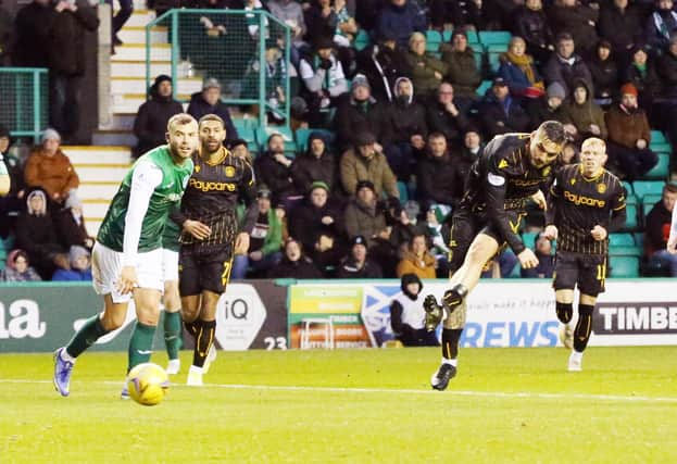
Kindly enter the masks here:
<path id="1" fill-rule="evenodd" d="M 75 360 L 105 334 L 120 328 L 127 314 L 130 294 L 121 294 L 115 283 L 122 269 L 122 253 L 100 243 L 92 250 L 92 285 L 95 291 L 103 296 L 103 313 L 88 318 L 65 347 L 54 353 L 53 383 L 64 397 L 68 396 L 71 374 Z"/>

